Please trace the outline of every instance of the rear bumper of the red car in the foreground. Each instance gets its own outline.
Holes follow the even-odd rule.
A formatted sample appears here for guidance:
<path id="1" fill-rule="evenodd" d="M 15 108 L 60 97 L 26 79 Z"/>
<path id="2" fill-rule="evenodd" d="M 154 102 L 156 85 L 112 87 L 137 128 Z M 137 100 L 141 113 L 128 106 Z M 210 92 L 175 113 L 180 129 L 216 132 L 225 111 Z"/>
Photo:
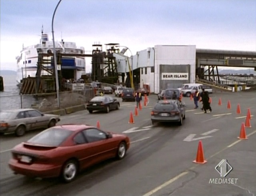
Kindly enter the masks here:
<path id="1" fill-rule="evenodd" d="M 17 174 L 31 177 L 50 178 L 60 175 L 61 166 L 51 164 L 22 164 L 18 160 L 11 159 L 9 167 Z"/>

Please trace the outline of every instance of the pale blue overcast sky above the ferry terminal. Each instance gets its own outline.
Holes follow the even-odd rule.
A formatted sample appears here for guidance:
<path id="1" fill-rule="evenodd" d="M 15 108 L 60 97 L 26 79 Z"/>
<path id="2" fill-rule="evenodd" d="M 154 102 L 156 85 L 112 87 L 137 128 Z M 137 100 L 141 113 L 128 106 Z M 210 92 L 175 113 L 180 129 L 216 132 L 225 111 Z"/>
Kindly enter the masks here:
<path id="1" fill-rule="evenodd" d="M 52 39 L 58 2 L 0 0 L 1 70 L 16 70 L 22 44 L 38 44 L 42 25 Z M 54 37 L 86 51 L 119 43 L 133 55 L 155 45 L 256 51 L 256 0 L 62 0 Z"/>

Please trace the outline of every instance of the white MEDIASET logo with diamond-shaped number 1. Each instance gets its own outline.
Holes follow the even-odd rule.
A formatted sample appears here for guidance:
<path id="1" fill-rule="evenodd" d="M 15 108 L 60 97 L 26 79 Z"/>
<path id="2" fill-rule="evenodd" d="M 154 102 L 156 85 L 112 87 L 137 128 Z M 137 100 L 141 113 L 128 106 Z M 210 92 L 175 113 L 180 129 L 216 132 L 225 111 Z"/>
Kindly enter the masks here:
<path id="1" fill-rule="evenodd" d="M 215 170 L 222 178 L 210 178 L 209 184 L 236 184 L 238 178 L 226 178 L 233 170 L 233 167 L 228 163 L 228 160 L 222 159 L 215 167 Z"/>

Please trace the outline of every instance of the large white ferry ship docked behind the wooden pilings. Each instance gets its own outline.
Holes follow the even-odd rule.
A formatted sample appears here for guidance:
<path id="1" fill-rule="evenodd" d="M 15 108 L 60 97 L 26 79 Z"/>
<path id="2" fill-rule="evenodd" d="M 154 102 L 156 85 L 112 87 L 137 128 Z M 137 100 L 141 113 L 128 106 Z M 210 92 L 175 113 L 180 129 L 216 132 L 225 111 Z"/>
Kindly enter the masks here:
<path id="1" fill-rule="evenodd" d="M 84 48 L 78 48 L 75 42 L 61 42 L 55 40 L 56 53 L 74 54 L 74 56 L 65 57 L 61 60 L 61 74 L 66 80 L 73 79 L 78 80 L 82 74 L 86 72 L 85 57 L 76 56 L 76 54 L 84 54 Z M 28 77 L 35 77 L 37 72 L 38 54 L 39 53 L 52 53 L 53 54 L 53 41 L 49 41 L 48 34 L 42 30 L 40 43 L 22 47 L 20 56 L 16 57 L 17 60 L 17 77 L 18 86 L 21 86 L 22 79 Z M 53 55 L 51 57 L 50 64 L 46 65 L 46 68 L 54 68 Z M 41 76 L 50 75 L 46 70 L 41 71 Z"/>

